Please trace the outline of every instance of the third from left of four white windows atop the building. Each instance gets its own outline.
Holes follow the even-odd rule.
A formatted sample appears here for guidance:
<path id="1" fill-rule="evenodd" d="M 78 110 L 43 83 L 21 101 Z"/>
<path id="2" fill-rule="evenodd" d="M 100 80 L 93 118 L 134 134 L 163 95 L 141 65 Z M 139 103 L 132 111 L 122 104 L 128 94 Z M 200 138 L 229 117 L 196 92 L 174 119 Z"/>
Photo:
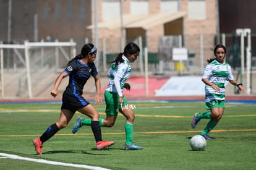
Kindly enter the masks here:
<path id="1" fill-rule="evenodd" d="M 160 11 L 170 13 L 178 12 L 179 0 L 161 0 Z"/>

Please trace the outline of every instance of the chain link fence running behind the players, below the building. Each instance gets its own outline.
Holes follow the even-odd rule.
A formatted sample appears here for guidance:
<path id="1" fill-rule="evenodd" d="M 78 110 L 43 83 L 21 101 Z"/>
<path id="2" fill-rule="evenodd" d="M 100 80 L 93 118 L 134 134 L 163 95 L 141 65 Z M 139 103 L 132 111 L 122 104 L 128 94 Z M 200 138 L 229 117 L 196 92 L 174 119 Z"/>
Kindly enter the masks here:
<path id="1" fill-rule="evenodd" d="M 234 77 L 237 79 L 245 79 L 239 75 L 241 70 L 241 48 L 240 37 L 234 33 L 226 34 L 221 38 L 221 43 L 226 45 L 228 51 L 226 61 L 233 68 Z M 245 38 L 245 47 L 247 46 Z M 68 40 L 69 41 L 69 40 Z M 132 63 L 133 76 L 142 76 L 145 72 L 144 66 L 144 48 L 148 48 L 148 74 L 149 76 L 171 77 L 182 75 L 202 75 L 207 59 L 214 57 L 213 48 L 216 45 L 216 35 L 186 35 L 181 36 L 151 36 L 134 37 L 126 40 L 126 43 L 134 41 L 141 48 L 141 54 L 138 61 Z M 93 43 L 90 38 L 75 40 L 76 54 L 80 53 L 80 49 L 85 43 Z M 251 87 L 254 82 L 256 72 L 256 35 L 252 33 L 252 72 L 251 72 Z M 17 42 L 15 42 L 17 44 Z M 188 50 L 186 61 L 173 61 L 172 49 L 184 47 Z M 164 53 L 163 53 L 164 48 Z M 69 47 L 60 48 L 44 48 L 42 54 L 41 48 L 30 50 L 30 67 L 32 68 L 32 90 L 33 97 L 41 97 L 47 91 L 49 86 L 52 87 L 56 76 L 66 66 L 67 62 L 72 59 L 72 53 Z M 121 53 L 121 38 L 109 38 L 98 40 L 98 55 L 96 65 L 98 71 L 102 75 L 106 75 L 106 71 L 110 67 L 110 62 L 118 53 Z M 66 51 L 66 52 L 64 52 Z M 166 52 L 167 51 L 167 52 Z M 1 91 L 4 89 L 4 98 L 28 98 L 27 95 L 27 77 L 25 62 L 25 51 L 22 49 L 2 49 L 3 61 L 3 76 L 1 79 Z M 65 54 L 66 53 L 66 54 Z M 58 57 L 57 57 L 58 56 Z M 246 56 L 246 53 L 245 53 Z M 245 57 L 246 60 L 246 57 Z M 245 62 L 246 63 L 246 62 Z M 246 67 L 246 66 L 245 66 Z M 43 83 L 44 82 L 44 83 Z M 244 80 L 245 82 L 245 80 Z M 44 87 L 43 87 L 44 86 Z M 3 88 L 4 87 L 4 88 Z M 252 87 L 252 93 L 256 91 Z"/>

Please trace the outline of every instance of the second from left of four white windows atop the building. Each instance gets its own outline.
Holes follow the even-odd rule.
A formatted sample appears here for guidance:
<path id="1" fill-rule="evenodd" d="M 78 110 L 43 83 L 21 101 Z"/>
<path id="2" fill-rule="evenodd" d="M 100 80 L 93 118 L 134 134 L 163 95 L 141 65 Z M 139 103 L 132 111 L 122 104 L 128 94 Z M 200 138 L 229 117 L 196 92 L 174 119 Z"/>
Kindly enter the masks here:
<path id="1" fill-rule="evenodd" d="M 130 2 L 130 14 L 148 14 L 148 1 L 132 0 Z"/>

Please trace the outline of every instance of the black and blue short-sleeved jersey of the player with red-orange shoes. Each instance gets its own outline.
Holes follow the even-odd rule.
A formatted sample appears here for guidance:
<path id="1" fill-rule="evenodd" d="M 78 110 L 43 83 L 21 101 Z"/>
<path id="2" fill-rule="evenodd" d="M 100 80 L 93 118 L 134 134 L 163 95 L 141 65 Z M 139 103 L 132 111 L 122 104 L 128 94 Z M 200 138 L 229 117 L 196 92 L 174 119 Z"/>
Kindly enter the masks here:
<path id="1" fill-rule="evenodd" d="M 69 75 L 69 85 L 64 93 L 73 95 L 82 95 L 83 86 L 90 76 L 98 75 L 94 63 L 83 64 L 79 59 L 70 62 L 64 72 Z"/>

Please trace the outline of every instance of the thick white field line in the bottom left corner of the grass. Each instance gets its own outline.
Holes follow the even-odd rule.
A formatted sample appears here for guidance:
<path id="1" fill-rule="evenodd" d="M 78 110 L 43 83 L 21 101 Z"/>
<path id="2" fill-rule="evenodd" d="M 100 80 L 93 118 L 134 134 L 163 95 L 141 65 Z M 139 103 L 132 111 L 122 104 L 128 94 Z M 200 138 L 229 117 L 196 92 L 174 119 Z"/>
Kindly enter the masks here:
<path id="1" fill-rule="evenodd" d="M 0 156 L 4 156 L 4 157 L 0 157 L 0 158 L 20 159 L 20 160 L 25 160 L 25 161 L 32 161 L 35 163 L 54 164 L 54 165 L 70 166 L 70 167 L 75 167 L 75 168 L 85 168 L 85 169 L 93 169 L 93 170 L 110 170 L 110 169 L 106 169 L 106 168 L 101 168 L 99 166 L 88 166 L 85 164 L 61 163 L 61 162 L 56 162 L 56 161 L 48 161 L 45 159 L 25 158 L 22 156 L 10 155 L 10 154 L 6 154 L 6 153 L 0 153 Z"/>

